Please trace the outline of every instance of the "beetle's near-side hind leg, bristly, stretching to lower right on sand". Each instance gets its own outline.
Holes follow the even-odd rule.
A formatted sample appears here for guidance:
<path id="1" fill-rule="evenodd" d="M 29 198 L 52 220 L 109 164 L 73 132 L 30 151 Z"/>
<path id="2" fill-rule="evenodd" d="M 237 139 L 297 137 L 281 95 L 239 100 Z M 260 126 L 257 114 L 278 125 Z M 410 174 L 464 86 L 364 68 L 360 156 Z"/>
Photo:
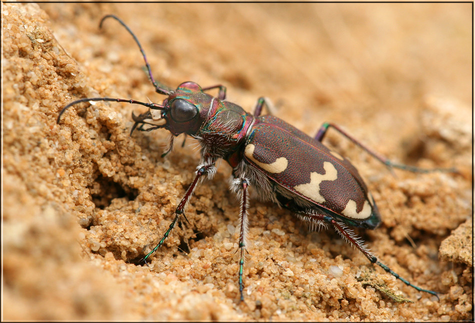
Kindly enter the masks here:
<path id="1" fill-rule="evenodd" d="M 363 253 L 363 255 L 373 264 L 376 264 L 378 265 L 379 267 L 381 267 L 382 269 L 384 269 L 384 271 L 386 273 L 389 273 L 391 274 L 392 276 L 394 276 L 395 278 L 397 278 L 398 280 L 400 280 L 401 282 L 403 282 L 404 284 L 406 284 L 407 286 L 410 286 L 414 289 L 416 289 L 417 291 L 419 292 L 425 292 L 425 293 L 429 293 L 431 295 L 434 295 L 437 297 L 438 299 L 438 296 L 437 296 L 437 293 L 436 292 L 433 292 L 433 291 L 429 291 L 429 290 L 424 290 L 420 287 L 417 287 L 415 285 L 412 285 L 411 283 L 409 283 L 407 280 L 403 279 L 402 277 L 400 277 L 398 274 L 396 274 L 395 272 L 393 272 L 389 267 L 387 267 L 386 265 L 384 265 L 383 263 L 379 262 L 377 260 L 377 258 L 371 254 L 369 252 L 369 250 L 367 249 L 367 247 L 363 244 L 363 241 L 361 240 L 361 238 L 358 238 L 353 230 L 351 229 L 347 229 L 346 226 L 341 223 L 341 222 L 338 222 L 336 221 L 335 219 L 333 219 L 332 217 L 328 216 L 328 215 L 320 215 L 320 214 L 316 214 L 316 213 L 309 213 L 309 214 L 298 214 L 299 217 L 302 217 L 304 218 L 306 221 L 308 222 L 316 222 L 316 221 L 323 221 L 325 223 L 328 223 L 330 225 L 333 226 L 333 228 L 335 228 L 336 232 L 338 232 L 341 237 L 343 237 L 350 245 L 352 245 L 353 247 L 355 247 L 356 249 L 358 249 L 360 252 Z"/>

